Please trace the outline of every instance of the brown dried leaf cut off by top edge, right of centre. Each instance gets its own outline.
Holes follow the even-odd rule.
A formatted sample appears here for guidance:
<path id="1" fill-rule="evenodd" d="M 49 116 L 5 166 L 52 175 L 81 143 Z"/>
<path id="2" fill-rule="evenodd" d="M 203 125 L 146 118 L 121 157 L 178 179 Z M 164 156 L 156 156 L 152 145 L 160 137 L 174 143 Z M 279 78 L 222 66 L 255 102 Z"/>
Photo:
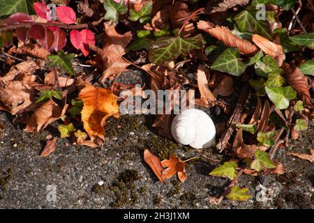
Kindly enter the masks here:
<path id="1" fill-rule="evenodd" d="M 208 13 L 223 12 L 228 8 L 233 8 L 234 6 L 245 6 L 248 4 L 249 0 L 219 0 L 219 1 L 209 1 L 207 4 Z"/>

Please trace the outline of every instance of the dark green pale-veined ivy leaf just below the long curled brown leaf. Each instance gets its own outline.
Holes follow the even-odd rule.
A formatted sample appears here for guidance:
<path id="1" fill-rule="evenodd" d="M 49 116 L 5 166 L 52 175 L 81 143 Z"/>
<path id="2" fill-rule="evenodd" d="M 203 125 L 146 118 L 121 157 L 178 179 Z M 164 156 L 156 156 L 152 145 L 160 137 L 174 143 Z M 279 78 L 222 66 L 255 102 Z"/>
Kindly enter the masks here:
<path id="1" fill-rule="evenodd" d="M 239 49 L 227 48 L 217 57 L 213 65 L 211 65 L 211 69 L 239 76 L 246 70 L 246 65 L 239 60 L 239 56 Z"/>

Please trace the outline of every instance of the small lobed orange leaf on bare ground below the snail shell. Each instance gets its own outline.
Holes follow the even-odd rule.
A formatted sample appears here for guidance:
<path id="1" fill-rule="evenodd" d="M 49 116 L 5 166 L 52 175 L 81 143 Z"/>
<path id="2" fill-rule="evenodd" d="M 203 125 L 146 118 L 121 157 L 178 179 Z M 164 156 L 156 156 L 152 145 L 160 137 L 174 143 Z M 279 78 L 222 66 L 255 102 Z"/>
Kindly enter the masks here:
<path id="1" fill-rule="evenodd" d="M 174 174 L 178 173 L 179 180 L 183 183 L 186 180 L 186 171 L 184 169 L 184 162 L 182 162 L 177 156 L 170 155 L 170 160 L 161 161 L 163 167 L 167 169 L 163 170 L 162 177 L 164 179 L 171 178 Z"/>

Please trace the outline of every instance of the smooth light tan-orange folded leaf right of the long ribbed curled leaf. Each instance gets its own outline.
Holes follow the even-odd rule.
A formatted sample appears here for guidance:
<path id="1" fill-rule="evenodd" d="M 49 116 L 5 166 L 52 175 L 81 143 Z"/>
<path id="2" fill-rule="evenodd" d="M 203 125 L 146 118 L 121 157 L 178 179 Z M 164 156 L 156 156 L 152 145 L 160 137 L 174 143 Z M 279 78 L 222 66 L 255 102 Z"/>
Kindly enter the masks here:
<path id="1" fill-rule="evenodd" d="M 279 67 L 283 65 L 283 61 L 285 60 L 285 52 L 283 52 L 283 47 L 281 45 L 273 43 L 267 38 L 257 34 L 252 36 L 252 41 L 257 45 L 257 47 L 260 47 L 260 49 L 262 49 L 265 54 L 276 59 Z"/>

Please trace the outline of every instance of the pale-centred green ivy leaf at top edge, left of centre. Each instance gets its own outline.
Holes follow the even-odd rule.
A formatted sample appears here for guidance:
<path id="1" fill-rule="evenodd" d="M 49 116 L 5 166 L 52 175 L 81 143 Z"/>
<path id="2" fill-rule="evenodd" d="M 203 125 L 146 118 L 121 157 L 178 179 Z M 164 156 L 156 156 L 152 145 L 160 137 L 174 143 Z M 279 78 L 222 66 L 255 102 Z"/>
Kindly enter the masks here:
<path id="1" fill-rule="evenodd" d="M 119 14 L 124 15 L 128 11 L 124 0 L 120 0 L 119 3 L 113 0 L 104 0 L 103 6 L 105 7 L 106 13 L 104 16 L 105 20 L 112 20 L 113 22 L 118 22 Z"/>

